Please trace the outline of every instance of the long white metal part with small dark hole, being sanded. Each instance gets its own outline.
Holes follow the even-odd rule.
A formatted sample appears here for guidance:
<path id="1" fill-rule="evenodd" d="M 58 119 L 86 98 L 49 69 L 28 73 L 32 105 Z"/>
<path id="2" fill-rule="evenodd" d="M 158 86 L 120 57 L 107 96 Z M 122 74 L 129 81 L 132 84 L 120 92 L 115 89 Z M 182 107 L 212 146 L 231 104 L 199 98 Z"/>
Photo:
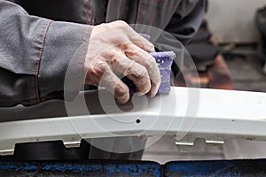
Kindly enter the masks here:
<path id="1" fill-rule="evenodd" d="M 92 109 L 98 110 L 91 115 L 0 123 L 0 154 L 12 154 L 15 143 L 20 142 L 62 140 L 72 146 L 82 138 L 130 135 L 184 136 L 179 142 L 193 142 L 197 137 L 207 141 L 231 137 L 266 140 L 265 93 L 171 88 L 168 96 L 147 98 L 148 102 L 136 98 L 133 111 L 121 112 L 106 90 L 100 92 L 87 94 L 103 96 L 107 114 L 91 100 Z M 196 109 L 196 114 L 187 108 Z"/>

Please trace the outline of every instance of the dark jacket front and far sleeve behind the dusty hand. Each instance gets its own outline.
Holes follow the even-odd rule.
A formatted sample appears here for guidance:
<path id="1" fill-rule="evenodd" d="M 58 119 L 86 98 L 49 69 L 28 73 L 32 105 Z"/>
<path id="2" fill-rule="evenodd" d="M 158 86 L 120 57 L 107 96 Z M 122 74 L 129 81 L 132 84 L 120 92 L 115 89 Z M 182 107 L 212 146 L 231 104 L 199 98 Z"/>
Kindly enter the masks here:
<path id="1" fill-rule="evenodd" d="M 98 25 L 113 20 L 159 27 L 186 43 L 200 27 L 206 0 L 12 0 L 30 14 Z"/>

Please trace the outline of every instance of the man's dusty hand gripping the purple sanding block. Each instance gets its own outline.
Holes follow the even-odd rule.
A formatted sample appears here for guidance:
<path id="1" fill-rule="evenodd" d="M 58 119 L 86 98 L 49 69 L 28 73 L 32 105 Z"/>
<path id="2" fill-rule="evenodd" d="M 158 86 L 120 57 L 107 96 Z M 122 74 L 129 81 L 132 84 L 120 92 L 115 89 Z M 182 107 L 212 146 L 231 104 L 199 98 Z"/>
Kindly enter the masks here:
<path id="1" fill-rule="evenodd" d="M 160 86 L 160 71 L 148 53 L 154 46 L 123 21 L 93 27 L 85 60 L 85 84 L 102 86 L 121 104 L 129 101 L 129 88 L 117 74 L 127 76 L 138 95 L 155 96 Z"/>

